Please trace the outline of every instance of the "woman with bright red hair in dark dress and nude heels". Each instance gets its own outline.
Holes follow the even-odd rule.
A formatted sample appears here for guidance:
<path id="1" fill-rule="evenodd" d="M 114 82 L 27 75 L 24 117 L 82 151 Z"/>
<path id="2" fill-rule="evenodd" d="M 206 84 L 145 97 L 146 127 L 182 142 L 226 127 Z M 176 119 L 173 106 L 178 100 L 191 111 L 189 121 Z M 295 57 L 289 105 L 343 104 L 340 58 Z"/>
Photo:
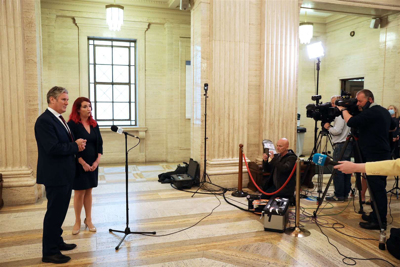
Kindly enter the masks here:
<path id="1" fill-rule="evenodd" d="M 74 105 L 68 126 L 75 139 L 84 137 L 86 147 L 79 152 L 77 157 L 80 164 L 76 167 L 76 175 L 72 189 L 74 189 L 74 210 L 75 225 L 72 234 L 76 235 L 80 231 L 80 213 L 82 205 L 85 207 L 86 218 L 84 224 L 89 231 L 96 232 L 96 227 L 92 223 L 92 188 L 97 187 L 98 165 L 103 154 L 103 139 L 100 135 L 100 128 L 96 120 L 92 117 L 92 103 L 86 97 L 78 97 Z"/>

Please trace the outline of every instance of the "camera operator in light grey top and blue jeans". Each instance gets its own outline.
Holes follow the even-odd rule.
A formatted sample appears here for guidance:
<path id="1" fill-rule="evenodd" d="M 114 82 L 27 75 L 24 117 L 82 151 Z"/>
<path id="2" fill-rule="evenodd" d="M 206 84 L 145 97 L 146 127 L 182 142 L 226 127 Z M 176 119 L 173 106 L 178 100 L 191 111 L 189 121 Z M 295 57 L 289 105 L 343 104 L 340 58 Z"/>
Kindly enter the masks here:
<path id="1" fill-rule="evenodd" d="M 330 102 L 332 107 L 336 107 L 335 101 L 340 98 L 339 95 L 332 96 Z M 333 142 L 333 160 L 334 161 L 350 161 L 353 145 L 349 142 L 346 150 L 344 151 L 343 157 L 340 159 L 340 152 L 346 142 L 346 137 L 350 132 L 350 127 L 346 125 L 346 122 L 341 116 L 335 118 L 334 126 L 331 126 L 328 122 L 325 123 L 324 128 L 329 131 L 332 135 Z M 348 201 L 348 196 L 351 190 L 351 174 L 344 174 L 341 171 L 336 171 L 336 175 L 333 177 L 333 185 L 335 187 L 334 195 L 327 197 L 327 201 L 344 202 Z"/>

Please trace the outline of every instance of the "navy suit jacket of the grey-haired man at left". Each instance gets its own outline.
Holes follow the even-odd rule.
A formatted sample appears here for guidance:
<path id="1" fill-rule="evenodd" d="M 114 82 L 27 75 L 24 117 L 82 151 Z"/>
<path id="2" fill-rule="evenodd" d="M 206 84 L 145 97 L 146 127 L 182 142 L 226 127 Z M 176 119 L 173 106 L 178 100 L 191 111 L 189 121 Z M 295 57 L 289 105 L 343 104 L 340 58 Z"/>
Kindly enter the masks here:
<path id="1" fill-rule="evenodd" d="M 36 183 L 50 187 L 72 184 L 78 144 L 71 141 L 65 126 L 48 109 L 36 120 L 35 138 L 38 144 Z"/>

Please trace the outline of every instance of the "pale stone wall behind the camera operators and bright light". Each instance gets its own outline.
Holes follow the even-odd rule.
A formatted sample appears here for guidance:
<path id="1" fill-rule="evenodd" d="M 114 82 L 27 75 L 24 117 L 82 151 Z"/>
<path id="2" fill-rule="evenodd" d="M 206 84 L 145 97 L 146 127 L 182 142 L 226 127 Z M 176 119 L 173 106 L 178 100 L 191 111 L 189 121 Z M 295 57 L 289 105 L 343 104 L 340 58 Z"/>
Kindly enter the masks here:
<path id="1" fill-rule="evenodd" d="M 386 22 L 387 21 L 387 22 Z M 364 77 L 364 88 L 374 93 L 375 102 L 400 106 L 400 15 L 382 19 L 379 29 L 371 29 L 370 18 L 347 16 L 326 24 L 322 40 L 326 55 L 321 57 L 319 92 L 322 101 L 340 94 L 340 79 Z M 350 36 L 354 30 L 355 35 Z M 314 120 L 306 118 L 306 104 L 314 94 L 315 60 L 308 58 L 306 45 L 299 53 L 299 102 L 301 124 L 307 128 L 303 154 L 314 145 Z M 318 128 L 321 128 L 318 122 Z M 319 129 L 320 130 L 320 129 Z"/>

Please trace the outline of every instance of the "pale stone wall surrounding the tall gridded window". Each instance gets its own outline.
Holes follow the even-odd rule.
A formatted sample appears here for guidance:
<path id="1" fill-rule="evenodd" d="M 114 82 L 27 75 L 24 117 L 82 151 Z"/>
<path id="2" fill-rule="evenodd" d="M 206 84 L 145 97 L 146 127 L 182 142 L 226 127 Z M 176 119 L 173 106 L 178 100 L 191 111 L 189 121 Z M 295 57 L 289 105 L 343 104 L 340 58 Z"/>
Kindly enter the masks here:
<path id="1" fill-rule="evenodd" d="M 69 90 L 66 114 L 70 114 L 77 97 L 88 96 L 88 36 L 136 39 L 138 127 L 124 129 L 138 135 L 141 143 L 130 151 L 128 159 L 188 161 L 190 119 L 185 118 L 185 68 L 181 68 L 181 59 L 190 60 L 190 14 L 128 6 L 120 32 L 108 30 L 104 17 L 104 6 L 99 4 L 42 1 L 42 110 L 47 106 L 46 92 L 55 84 Z M 124 138 L 108 128 L 101 132 L 102 163 L 124 162 Z M 136 142 L 129 139 L 128 146 Z"/>

